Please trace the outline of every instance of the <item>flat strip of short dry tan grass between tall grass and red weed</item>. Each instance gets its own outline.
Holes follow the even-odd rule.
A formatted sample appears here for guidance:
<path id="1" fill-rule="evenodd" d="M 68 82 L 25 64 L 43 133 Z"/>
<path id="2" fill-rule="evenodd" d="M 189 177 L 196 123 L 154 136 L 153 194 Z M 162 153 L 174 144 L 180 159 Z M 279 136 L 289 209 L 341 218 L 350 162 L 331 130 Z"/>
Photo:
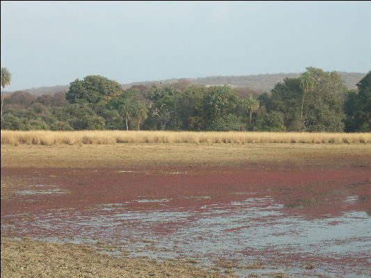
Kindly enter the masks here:
<path id="1" fill-rule="evenodd" d="M 365 165 L 370 144 L 1 145 L 1 167 Z"/>

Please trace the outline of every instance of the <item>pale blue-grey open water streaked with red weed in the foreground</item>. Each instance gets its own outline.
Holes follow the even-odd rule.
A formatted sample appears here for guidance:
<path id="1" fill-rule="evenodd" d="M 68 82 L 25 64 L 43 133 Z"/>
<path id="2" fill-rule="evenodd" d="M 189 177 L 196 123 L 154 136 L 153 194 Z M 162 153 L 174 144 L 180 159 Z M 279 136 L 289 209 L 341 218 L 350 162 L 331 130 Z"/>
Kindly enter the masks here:
<path id="1" fill-rule="evenodd" d="M 350 196 L 344 202 L 357 199 L 358 196 Z M 371 218 L 363 211 L 308 219 L 287 213 L 283 204 L 277 204 L 270 196 L 191 209 L 132 211 L 128 204 L 3 215 L 4 219 L 26 220 L 11 224 L 4 221 L 1 230 L 35 238 L 42 234 L 42 239 L 52 241 L 64 237 L 69 242 L 94 244 L 102 240 L 123 247 L 134 256 L 196 258 L 198 265 L 203 266 L 225 259 L 233 262 L 232 269 L 242 277 L 279 271 L 294 277 L 370 277 Z M 304 267 L 308 262 L 314 266 L 312 270 Z M 254 263 L 262 263 L 264 268 L 242 268 Z"/>

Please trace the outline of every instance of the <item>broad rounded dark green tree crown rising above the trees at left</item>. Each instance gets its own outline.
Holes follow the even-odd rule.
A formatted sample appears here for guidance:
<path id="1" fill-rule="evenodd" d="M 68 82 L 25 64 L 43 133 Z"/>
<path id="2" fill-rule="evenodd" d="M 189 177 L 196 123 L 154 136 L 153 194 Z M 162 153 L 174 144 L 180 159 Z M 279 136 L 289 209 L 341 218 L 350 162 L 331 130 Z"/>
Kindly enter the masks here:
<path id="1" fill-rule="evenodd" d="M 123 88 L 116 81 L 100 75 L 89 75 L 84 80 L 76 79 L 72 81 L 65 98 L 70 104 L 80 102 L 97 104 L 100 101 L 107 104 L 111 99 L 117 98 L 122 93 Z"/>

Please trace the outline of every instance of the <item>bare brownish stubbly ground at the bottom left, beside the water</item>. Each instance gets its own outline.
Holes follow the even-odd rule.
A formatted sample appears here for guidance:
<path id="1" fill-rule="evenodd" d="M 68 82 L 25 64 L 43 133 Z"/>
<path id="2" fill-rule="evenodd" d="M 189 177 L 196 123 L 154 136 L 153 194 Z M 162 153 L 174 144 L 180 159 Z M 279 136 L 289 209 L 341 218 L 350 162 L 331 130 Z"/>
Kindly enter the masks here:
<path id="1" fill-rule="evenodd" d="M 84 245 L 1 238 L 1 277 L 227 277 L 187 262 L 113 257 Z M 228 275 L 234 277 L 234 275 Z"/>

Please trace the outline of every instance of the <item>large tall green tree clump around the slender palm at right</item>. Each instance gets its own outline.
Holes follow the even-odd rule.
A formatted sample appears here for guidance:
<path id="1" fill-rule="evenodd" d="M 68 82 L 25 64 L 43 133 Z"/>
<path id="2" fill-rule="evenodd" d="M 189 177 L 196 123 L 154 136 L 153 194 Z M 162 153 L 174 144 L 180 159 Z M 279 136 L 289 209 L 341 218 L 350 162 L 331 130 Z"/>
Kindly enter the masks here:
<path id="1" fill-rule="evenodd" d="M 344 81 L 336 72 L 308 67 L 301 78 L 276 84 L 271 111 L 283 113 L 287 131 L 342 131 L 345 90 Z"/>

